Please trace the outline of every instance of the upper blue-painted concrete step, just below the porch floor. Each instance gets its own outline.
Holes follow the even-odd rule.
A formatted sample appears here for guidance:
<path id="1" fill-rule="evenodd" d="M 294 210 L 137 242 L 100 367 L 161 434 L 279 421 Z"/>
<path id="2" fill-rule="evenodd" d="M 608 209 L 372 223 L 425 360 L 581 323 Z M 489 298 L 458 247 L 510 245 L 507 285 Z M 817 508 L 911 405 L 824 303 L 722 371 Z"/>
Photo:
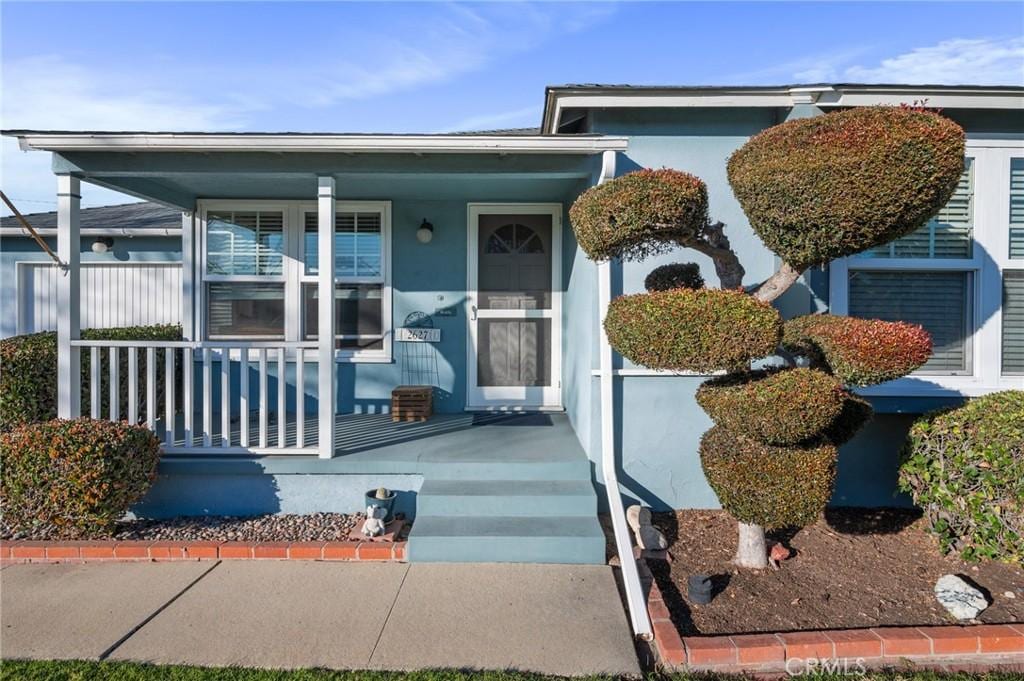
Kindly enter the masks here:
<path id="1" fill-rule="evenodd" d="M 419 516 L 590 516 L 597 496 L 590 480 L 436 480 L 416 497 Z"/>

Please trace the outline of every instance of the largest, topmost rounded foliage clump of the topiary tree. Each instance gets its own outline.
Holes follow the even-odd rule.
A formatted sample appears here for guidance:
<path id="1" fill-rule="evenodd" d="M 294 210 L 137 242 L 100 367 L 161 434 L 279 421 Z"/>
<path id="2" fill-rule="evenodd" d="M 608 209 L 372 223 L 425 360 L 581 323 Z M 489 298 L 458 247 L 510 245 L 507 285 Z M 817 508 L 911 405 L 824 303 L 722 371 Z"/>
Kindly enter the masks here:
<path id="1" fill-rule="evenodd" d="M 729 159 L 751 226 L 797 269 L 887 244 L 934 216 L 964 171 L 964 130 L 911 108 L 782 123 Z"/>

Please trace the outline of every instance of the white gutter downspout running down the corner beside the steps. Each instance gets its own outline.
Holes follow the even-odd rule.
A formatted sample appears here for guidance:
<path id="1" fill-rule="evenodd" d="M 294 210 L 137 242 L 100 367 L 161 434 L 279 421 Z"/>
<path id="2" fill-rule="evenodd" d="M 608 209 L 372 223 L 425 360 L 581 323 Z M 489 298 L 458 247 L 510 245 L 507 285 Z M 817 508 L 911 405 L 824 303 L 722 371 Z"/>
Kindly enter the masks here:
<path id="1" fill-rule="evenodd" d="M 604 152 L 601 158 L 601 174 L 597 183 L 611 179 L 615 175 L 615 152 Z M 643 586 L 640 584 L 640 572 L 637 561 L 633 557 L 633 543 L 630 541 L 630 528 L 626 524 L 626 509 L 623 508 L 623 497 L 618 491 L 618 475 L 615 472 L 615 402 L 614 375 L 611 367 L 611 345 L 604 333 L 604 316 L 611 302 L 611 262 L 601 260 L 597 263 L 598 310 L 601 317 L 600 356 L 601 356 L 601 471 L 604 477 L 604 491 L 608 496 L 608 510 L 611 513 L 611 526 L 615 535 L 615 552 L 623 570 L 623 584 L 626 587 L 626 603 L 629 606 L 630 622 L 633 634 L 637 638 L 649 641 L 653 638 L 650 619 L 647 616 L 647 599 L 644 597 Z"/>

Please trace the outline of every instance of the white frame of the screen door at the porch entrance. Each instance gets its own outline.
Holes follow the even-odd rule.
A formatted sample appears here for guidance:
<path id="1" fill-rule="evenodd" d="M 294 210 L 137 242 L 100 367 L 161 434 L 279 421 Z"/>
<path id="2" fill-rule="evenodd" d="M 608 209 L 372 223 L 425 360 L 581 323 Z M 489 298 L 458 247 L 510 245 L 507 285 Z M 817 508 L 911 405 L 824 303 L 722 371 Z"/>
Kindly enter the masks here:
<path id="1" fill-rule="evenodd" d="M 546 204 L 470 203 L 466 206 L 466 409 L 467 410 L 531 410 L 562 409 L 562 211 L 563 206 Z M 477 223 L 481 215 L 550 215 L 551 216 L 551 307 L 538 310 L 481 310 L 477 307 L 478 237 Z M 477 385 L 477 318 L 517 317 L 551 320 L 551 385 L 516 388 L 521 397 L 512 397 L 508 389 L 485 389 Z M 484 390 L 493 396 L 484 394 Z"/>

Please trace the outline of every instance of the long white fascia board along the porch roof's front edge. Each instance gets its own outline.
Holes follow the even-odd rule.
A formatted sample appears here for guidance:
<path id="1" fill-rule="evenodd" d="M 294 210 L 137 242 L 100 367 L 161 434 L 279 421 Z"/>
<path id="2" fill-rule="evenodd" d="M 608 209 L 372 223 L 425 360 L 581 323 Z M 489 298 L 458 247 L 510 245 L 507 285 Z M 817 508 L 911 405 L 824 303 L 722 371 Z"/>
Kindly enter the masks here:
<path id="1" fill-rule="evenodd" d="M 623 152 L 626 137 L 289 135 L 15 132 L 23 151 L 324 152 L 344 154 L 600 154 Z"/>

